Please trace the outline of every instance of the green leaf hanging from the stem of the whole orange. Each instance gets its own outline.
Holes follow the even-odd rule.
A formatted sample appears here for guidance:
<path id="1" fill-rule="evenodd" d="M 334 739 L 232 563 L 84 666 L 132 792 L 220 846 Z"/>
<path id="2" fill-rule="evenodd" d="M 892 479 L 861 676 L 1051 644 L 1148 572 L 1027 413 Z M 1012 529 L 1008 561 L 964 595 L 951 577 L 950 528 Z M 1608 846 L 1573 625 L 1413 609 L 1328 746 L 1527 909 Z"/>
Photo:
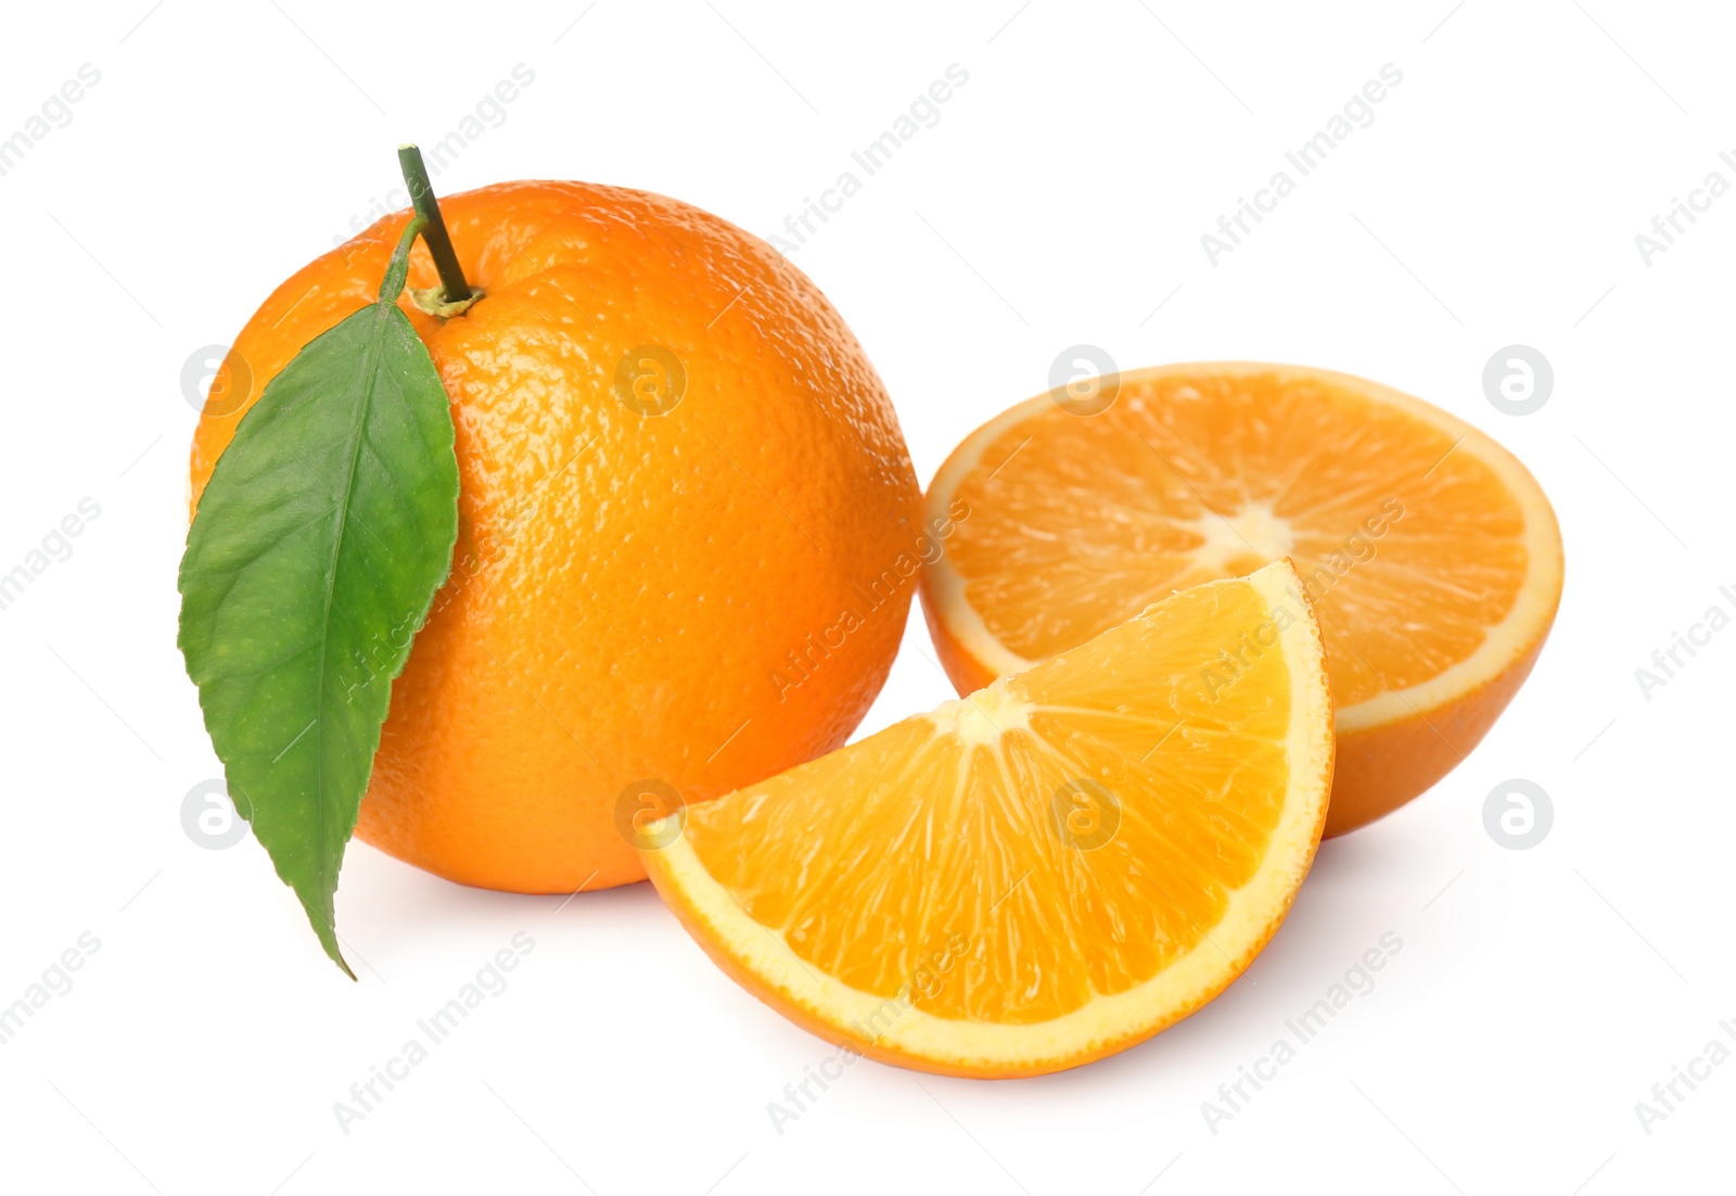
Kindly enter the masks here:
<path id="1" fill-rule="evenodd" d="M 396 304 L 420 224 L 378 302 L 306 345 L 241 420 L 181 561 L 181 651 L 236 811 L 352 979 L 339 866 L 458 535 L 451 408 Z"/>

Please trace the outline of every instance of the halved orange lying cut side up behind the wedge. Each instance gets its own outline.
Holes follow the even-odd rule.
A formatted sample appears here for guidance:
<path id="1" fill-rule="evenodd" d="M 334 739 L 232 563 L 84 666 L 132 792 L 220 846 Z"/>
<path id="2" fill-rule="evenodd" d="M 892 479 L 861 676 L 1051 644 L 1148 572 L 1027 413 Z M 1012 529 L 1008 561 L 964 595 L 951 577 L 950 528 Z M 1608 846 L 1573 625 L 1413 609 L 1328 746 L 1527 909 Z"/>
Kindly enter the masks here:
<path id="1" fill-rule="evenodd" d="M 1524 465 L 1328 370 L 1179 365 L 1038 396 L 965 437 L 927 509 L 951 535 L 924 609 L 960 693 L 1182 587 L 1295 561 L 1338 706 L 1326 835 L 1455 767 L 1561 602 L 1561 531 Z"/>

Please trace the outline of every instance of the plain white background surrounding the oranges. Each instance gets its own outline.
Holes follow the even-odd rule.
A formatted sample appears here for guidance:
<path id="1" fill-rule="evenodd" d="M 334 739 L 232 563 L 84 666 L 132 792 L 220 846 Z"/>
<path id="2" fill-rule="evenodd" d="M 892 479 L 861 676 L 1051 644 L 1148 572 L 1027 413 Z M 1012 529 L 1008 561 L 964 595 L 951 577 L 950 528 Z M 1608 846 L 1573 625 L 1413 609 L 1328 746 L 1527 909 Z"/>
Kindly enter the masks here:
<path id="1" fill-rule="evenodd" d="M 587 7 L 589 5 L 589 7 Z M 1635 234 L 1736 182 L 1715 5 L 861 5 L 573 0 L 14 5 L 0 137 L 101 82 L 0 177 L 0 571 L 101 516 L 0 611 L 0 1005 L 101 943 L 0 1047 L 0 1186 L 101 1193 L 1332 1193 L 1731 1186 L 1736 1064 L 1646 1134 L 1635 1102 L 1736 1019 L 1731 663 L 1635 668 L 1736 609 L 1736 196 L 1647 266 Z M 977 1083 L 832 1054 L 719 974 L 646 885 L 477 892 L 354 845 L 361 982 L 253 844 L 181 825 L 217 776 L 174 646 L 194 410 L 181 371 L 524 62 L 437 179 L 644 187 L 776 231 L 948 64 L 970 78 L 793 260 L 851 321 L 924 483 L 1078 342 L 1123 366 L 1302 361 L 1489 430 L 1561 514 L 1568 587 L 1528 687 L 1399 814 L 1323 847 L 1207 1010 L 1111 1061 Z M 1382 64 L 1399 87 L 1212 266 L 1200 236 Z M 1484 398 L 1509 344 L 1555 389 Z M 951 696 L 913 620 L 866 729 Z M 1484 797 L 1554 826 L 1493 842 Z M 332 1106 L 528 932 L 535 950 L 366 1120 Z M 1385 932 L 1403 951 L 1231 1121 L 1201 1102 Z M 1726 1040 L 1736 1048 L 1736 1042 Z M 1679 1088 L 1687 1092 L 1686 1088 Z"/>

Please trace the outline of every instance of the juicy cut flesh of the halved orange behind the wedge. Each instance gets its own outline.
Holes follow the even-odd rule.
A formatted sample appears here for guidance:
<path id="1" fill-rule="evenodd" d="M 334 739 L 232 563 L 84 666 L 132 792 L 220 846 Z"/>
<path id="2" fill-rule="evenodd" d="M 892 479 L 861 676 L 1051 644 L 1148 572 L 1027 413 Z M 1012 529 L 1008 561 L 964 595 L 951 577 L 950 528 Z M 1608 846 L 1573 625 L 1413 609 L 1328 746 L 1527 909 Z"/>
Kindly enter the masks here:
<path id="1" fill-rule="evenodd" d="M 1042 448 L 1021 451 L 1033 436 Z M 1052 406 L 991 443 L 958 484 L 970 514 L 948 554 L 990 634 L 1026 660 L 1290 555 L 1345 708 L 1467 660 L 1519 597 L 1524 514 L 1453 448 L 1323 380 L 1123 380 L 1108 411 Z"/>

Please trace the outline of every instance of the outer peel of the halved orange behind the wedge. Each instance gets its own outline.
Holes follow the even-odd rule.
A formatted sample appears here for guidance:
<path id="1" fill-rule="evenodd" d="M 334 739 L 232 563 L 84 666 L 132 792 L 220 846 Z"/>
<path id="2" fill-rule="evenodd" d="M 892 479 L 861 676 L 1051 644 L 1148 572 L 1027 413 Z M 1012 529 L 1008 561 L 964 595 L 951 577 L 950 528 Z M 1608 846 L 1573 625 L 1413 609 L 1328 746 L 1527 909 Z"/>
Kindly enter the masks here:
<path id="1" fill-rule="evenodd" d="M 936 616 L 927 583 L 922 587 L 922 614 L 934 639 L 934 651 L 953 687 L 972 693 L 995 680 L 995 672 L 972 656 Z M 1550 613 L 1554 620 L 1554 613 Z M 1385 722 L 1377 727 L 1338 733 L 1338 750 L 1332 781 L 1332 805 L 1326 811 L 1326 838 L 1349 833 L 1384 818 L 1420 797 L 1443 776 L 1458 767 L 1483 741 L 1531 667 L 1543 651 L 1547 632 L 1524 656 L 1488 684 L 1439 710 Z M 1326 644 L 1332 653 L 1332 644 Z"/>

